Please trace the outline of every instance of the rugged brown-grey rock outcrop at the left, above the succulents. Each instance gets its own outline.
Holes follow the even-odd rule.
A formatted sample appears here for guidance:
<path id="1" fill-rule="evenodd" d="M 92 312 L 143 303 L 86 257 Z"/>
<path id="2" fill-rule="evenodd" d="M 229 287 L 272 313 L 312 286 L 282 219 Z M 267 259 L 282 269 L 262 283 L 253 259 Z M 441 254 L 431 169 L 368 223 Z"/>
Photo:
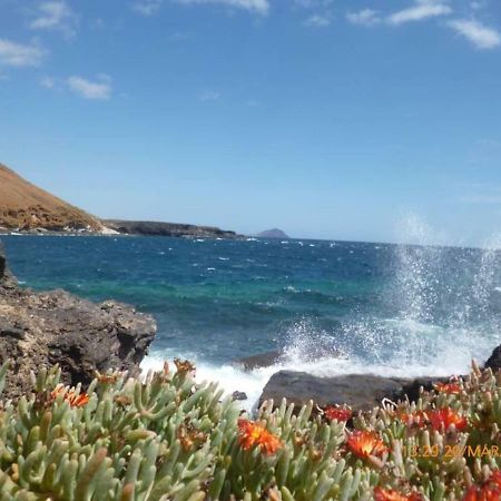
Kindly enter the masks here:
<path id="1" fill-rule="evenodd" d="M 153 317 L 128 305 L 20 288 L 0 247 L 0 363 L 12 361 L 8 397 L 23 394 L 30 371 L 43 365 L 59 364 L 71 385 L 88 384 L 95 371 L 110 367 L 136 375 L 156 330 Z"/>

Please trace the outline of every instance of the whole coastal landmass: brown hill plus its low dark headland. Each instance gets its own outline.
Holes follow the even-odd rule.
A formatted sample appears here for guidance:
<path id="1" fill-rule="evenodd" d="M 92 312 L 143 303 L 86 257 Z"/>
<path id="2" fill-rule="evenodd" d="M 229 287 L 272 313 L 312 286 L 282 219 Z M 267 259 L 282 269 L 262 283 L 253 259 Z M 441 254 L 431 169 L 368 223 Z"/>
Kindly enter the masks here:
<path id="1" fill-rule="evenodd" d="M 0 233 L 240 237 L 235 232 L 212 226 L 101 219 L 35 186 L 2 164 L 0 164 Z"/>

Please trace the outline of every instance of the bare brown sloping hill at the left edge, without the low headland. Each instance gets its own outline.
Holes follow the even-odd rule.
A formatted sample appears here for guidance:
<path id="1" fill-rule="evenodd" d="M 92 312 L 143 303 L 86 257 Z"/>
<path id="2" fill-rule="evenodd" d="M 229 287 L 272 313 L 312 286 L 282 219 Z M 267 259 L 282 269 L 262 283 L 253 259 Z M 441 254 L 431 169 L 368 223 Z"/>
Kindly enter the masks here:
<path id="1" fill-rule="evenodd" d="M 0 226 L 21 230 L 102 230 L 98 218 L 28 183 L 2 164 Z"/>

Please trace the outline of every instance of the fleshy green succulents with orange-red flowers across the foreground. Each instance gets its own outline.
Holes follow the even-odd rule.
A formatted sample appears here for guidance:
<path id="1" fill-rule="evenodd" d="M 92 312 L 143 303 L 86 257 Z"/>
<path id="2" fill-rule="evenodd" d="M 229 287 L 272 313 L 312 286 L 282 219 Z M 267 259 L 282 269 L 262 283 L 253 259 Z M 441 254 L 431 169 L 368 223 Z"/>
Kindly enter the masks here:
<path id="1" fill-rule="evenodd" d="M 0 405 L 0 499 L 501 499 L 501 373 L 473 366 L 356 416 L 268 402 L 252 419 L 175 363 L 146 381 L 97 374 L 85 393 L 58 367 L 33 375 L 31 395 Z"/>

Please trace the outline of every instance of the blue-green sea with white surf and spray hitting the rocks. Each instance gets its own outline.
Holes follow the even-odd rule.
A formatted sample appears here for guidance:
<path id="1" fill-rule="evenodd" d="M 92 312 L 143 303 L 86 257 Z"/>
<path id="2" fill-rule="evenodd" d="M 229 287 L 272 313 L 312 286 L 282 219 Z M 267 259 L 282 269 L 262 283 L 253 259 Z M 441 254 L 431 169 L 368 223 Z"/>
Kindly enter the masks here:
<path id="1" fill-rule="evenodd" d="M 19 281 L 153 314 L 145 367 L 189 357 L 199 377 L 258 396 L 281 367 L 317 374 L 464 372 L 501 343 L 501 254 L 320 240 L 2 236 Z M 245 374 L 235 358 L 283 350 Z M 332 357 L 333 350 L 343 357 Z"/>

